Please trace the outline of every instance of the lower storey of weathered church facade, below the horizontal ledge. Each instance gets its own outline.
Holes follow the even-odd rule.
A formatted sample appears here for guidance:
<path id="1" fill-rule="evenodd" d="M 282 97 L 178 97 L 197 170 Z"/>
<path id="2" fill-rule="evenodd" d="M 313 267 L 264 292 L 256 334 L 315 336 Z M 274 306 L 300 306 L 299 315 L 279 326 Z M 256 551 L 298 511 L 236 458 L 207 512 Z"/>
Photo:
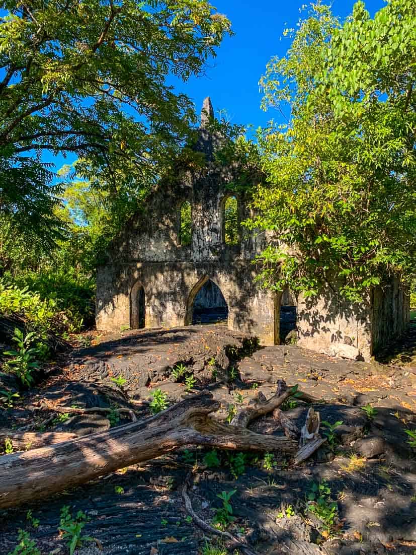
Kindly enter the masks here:
<path id="1" fill-rule="evenodd" d="M 145 291 L 146 327 L 176 327 L 192 321 L 192 306 L 207 279 L 220 287 L 229 307 L 229 328 L 274 343 L 271 292 L 253 286 L 247 264 L 136 263 L 99 269 L 97 328 L 119 330 L 130 325 L 130 293 L 137 281 Z M 117 284 L 116 288 L 114 284 Z M 133 299 L 134 301 L 134 299 Z"/>

